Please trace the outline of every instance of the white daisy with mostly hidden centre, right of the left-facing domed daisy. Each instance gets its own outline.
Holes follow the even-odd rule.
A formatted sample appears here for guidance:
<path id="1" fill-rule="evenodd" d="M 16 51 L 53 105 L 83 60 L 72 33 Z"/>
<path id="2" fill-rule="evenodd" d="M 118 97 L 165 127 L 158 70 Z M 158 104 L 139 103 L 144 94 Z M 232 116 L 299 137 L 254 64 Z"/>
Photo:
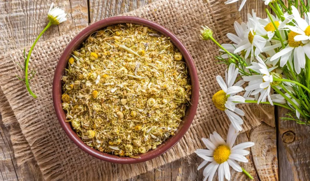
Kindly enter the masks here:
<path id="1" fill-rule="evenodd" d="M 272 67 L 268 69 L 265 62 L 260 57 L 256 57 L 256 59 L 258 62 L 252 62 L 252 65 L 246 68 L 252 69 L 259 74 L 243 77 L 244 81 L 249 82 L 245 90 L 252 91 L 250 95 L 258 95 L 260 93 L 257 103 L 266 102 L 266 98 L 268 97 L 268 101 L 271 105 L 273 105 L 270 98 L 270 90 L 271 85 L 274 85 L 277 82 L 273 82 L 273 77 L 270 72 L 277 67 Z"/>

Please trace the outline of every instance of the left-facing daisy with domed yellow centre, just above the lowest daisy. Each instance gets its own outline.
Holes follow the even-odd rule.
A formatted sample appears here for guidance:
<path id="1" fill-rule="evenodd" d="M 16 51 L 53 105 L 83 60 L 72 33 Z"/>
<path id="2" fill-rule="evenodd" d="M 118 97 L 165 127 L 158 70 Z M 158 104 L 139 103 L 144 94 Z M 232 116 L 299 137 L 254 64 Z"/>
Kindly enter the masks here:
<path id="1" fill-rule="evenodd" d="M 222 90 L 219 90 L 213 95 L 212 102 L 214 103 L 216 108 L 224 111 L 227 114 L 229 120 L 232 122 L 232 125 L 238 131 L 241 131 L 241 124 L 243 124 L 243 120 L 239 115 L 244 116 L 245 114 L 241 109 L 236 107 L 237 103 L 235 102 L 245 102 L 245 98 L 235 94 L 244 90 L 241 87 L 244 81 L 240 80 L 236 84 L 234 84 L 239 72 L 239 69 L 235 68 L 235 66 L 236 65 L 233 63 L 230 64 L 228 72 L 225 72 L 226 83 L 220 75 L 216 76 L 216 80 Z M 237 115 L 236 113 L 239 115 Z"/>

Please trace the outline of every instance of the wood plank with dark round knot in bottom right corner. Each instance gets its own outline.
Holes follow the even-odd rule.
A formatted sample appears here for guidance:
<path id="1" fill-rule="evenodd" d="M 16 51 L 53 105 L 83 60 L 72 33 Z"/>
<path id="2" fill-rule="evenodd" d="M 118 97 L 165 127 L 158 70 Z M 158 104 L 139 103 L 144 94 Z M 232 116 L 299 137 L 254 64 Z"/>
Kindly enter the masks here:
<path id="1" fill-rule="evenodd" d="M 287 110 L 279 109 L 279 176 L 280 180 L 310 179 L 310 127 L 291 120 L 282 120 Z"/>

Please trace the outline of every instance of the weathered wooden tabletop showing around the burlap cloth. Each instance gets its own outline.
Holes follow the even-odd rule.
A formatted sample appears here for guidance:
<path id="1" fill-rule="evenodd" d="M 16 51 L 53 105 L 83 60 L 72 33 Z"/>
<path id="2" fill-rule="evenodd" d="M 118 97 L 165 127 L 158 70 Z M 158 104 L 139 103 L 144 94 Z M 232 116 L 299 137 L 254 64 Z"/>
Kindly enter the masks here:
<path id="1" fill-rule="evenodd" d="M 39 41 L 55 36 L 55 31 L 58 31 L 59 35 L 65 34 L 153 1 L 156 0 L 56 0 L 54 6 L 69 12 L 68 21 L 47 31 Z M 0 50 L 7 52 L 31 45 L 47 23 L 46 11 L 43 13 L 42 9 L 48 9 L 50 4 L 50 1 L 41 0 L 2 0 Z M 240 2 L 236 6 L 239 4 Z M 259 16 L 265 17 L 264 8 L 261 0 L 247 0 L 241 11 L 242 20 L 246 21 L 246 13 L 252 9 Z M 266 117 L 262 120 L 262 125 L 240 134 L 237 138 L 237 141 L 253 141 L 257 145 L 250 149 L 249 163 L 243 165 L 255 180 L 310 180 L 310 128 L 279 119 L 284 117 L 285 113 L 285 110 L 276 107 L 275 116 Z M 8 130 L 3 125 L 0 134 L 0 180 L 42 180 L 42 176 L 36 172 L 38 167 L 35 164 L 20 167 L 16 165 Z M 202 159 L 194 154 L 131 180 L 201 180 L 203 169 L 197 171 L 197 165 L 201 161 Z M 232 180 L 243 180 L 242 178 L 245 178 L 242 173 L 232 174 Z"/>

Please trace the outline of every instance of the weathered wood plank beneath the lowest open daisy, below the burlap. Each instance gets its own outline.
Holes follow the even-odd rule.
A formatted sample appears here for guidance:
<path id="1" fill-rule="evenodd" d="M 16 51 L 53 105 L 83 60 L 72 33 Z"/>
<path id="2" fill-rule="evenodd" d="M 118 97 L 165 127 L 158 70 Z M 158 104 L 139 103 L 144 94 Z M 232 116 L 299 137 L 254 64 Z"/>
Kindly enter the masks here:
<path id="1" fill-rule="evenodd" d="M 277 144 L 276 144 L 276 130 L 266 124 L 262 124 L 257 128 L 246 133 L 241 133 L 236 140 L 236 144 L 247 141 L 253 141 L 255 146 L 251 147 L 251 155 L 247 156 L 249 162 L 239 164 L 244 167 L 255 180 L 278 180 L 277 168 Z M 136 179 L 142 180 L 161 180 L 161 181 L 191 181 L 202 180 L 203 169 L 197 171 L 198 165 L 203 160 L 193 154 L 188 158 L 183 158 L 174 161 L 170 164 L 163 165 L 152 172 L 139 175 Z M 169 166 L 170 165 L 170 166 Z M 243 173 L 231 170 L 231 180 L 250 180 Z M 155 174 L 155 177 L 154 177 Z M 215 180 L 217 179 L 215 175 Z"/>

